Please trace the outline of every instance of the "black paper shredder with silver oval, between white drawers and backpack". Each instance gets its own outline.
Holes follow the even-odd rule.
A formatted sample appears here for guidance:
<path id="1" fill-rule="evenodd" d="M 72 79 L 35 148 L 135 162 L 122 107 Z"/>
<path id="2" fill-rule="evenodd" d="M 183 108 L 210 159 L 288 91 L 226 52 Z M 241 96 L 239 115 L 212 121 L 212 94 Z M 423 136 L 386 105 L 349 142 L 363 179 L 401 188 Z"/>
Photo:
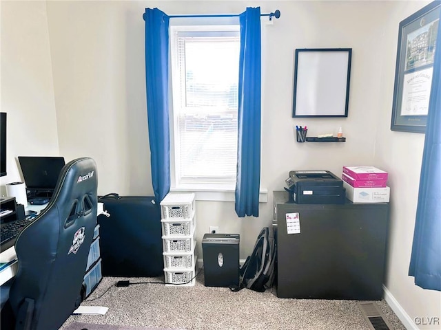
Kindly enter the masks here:
<path id="1" fill-rule="evenodd" d="M 239 234 L 204 234 L 202 253 L 206 287 L 239 285 Z"/>

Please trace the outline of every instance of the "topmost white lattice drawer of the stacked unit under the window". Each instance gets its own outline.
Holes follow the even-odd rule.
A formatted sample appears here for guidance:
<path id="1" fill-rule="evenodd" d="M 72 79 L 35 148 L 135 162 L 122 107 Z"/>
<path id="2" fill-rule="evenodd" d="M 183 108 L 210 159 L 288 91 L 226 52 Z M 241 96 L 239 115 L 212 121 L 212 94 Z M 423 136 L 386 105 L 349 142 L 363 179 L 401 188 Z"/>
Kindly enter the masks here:
<path id="1" fill-rule="evenodd" d="M 168 194 L 161 201 L 162 219 L 192 219 L 194 215 L 194 194 Z"/>

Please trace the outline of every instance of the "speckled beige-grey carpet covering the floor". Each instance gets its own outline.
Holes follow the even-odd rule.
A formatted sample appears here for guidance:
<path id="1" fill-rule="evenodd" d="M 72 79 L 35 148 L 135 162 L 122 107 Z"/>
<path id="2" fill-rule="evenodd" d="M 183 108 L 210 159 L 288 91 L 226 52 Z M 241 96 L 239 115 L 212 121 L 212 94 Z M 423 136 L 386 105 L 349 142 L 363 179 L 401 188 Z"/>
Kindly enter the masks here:
<path id="1" fill-rule="evenodd" d="M 158 329 L 371 329 L 356 300 L 282 299 L 277 298 L 275 289 L 263 293 L 249 289 L 231 292 L 225 287 L 205 287 L 203 274 L 193 287 L 114 286 L 125 279 L 131 283 L 163 281 L 163 278 L 103 278 L 83 305 L 109 307 L 107 314 L 70 316 L 61 329 L 70 330 L 67 327 L 72 322 Z M 393 329 L 405 330 L 384 300 L 375 303 Z"/>

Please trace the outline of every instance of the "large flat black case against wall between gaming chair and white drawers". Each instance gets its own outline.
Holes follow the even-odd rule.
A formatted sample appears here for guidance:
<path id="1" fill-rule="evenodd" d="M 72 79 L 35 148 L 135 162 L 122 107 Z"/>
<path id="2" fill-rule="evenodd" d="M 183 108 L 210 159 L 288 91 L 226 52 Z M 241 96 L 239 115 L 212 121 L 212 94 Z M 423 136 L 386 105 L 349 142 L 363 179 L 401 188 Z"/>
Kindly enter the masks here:
<path id="1" fill-rule="evenodd" d="M 150 196 L 99 196 L 110 214 L 98 217 L 103 276 L 163 274 L 161 206 Z"/>

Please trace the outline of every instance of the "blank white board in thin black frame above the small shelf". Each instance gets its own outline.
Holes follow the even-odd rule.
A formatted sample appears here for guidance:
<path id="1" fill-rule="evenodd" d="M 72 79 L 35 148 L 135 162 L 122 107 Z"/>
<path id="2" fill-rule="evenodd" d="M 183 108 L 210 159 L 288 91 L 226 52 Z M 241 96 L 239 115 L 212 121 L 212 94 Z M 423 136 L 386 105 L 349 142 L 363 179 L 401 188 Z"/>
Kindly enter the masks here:
<path id="1" fill-rule="evenodd" d="M 347 117 L 352 48 L 296 49 L 292 117 Z"/>

